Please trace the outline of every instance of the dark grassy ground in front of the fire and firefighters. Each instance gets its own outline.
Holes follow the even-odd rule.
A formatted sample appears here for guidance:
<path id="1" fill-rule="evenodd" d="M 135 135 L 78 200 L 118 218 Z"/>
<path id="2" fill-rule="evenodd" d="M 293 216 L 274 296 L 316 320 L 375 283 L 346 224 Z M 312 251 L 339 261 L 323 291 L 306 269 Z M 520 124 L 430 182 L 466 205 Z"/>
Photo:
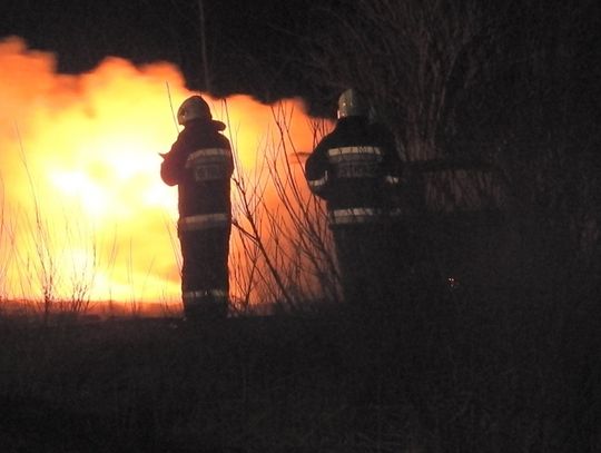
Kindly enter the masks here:
<path id="1" fill-rule="evenodd" d="M 597 321 L 548 308 L 0 318 L 0 452 L 601 451 Z"/>

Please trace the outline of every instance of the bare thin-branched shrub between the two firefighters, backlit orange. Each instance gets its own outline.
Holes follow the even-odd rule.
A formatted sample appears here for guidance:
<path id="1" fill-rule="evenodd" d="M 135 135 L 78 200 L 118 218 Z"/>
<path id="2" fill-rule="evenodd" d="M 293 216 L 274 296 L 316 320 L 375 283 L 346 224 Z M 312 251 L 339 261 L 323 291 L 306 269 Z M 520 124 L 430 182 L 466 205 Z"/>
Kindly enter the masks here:
<path id="1" fill-rule="evenodd" d="M 336 265 L 321 205 L 307 190 L 303 155 L 290 135 L 293 111 L 273 107 L 275 131 L 257 150 L 257 166 L 234 177 L 235 304 L 299 309 L 338 299 Z M 324 131 L 313 124 L 315 137 Z"/>

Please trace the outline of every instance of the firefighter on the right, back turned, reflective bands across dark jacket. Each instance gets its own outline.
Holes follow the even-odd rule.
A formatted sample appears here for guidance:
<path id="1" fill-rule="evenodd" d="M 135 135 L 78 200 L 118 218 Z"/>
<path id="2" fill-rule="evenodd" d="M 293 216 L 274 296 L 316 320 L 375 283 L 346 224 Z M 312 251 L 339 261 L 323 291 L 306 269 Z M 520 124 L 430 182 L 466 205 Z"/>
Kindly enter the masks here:
<path id="1" fill-rule="evenodd" d="M 353 305 L 398 295 L 401 169 L 392 134 L 370 122 L 356 90 L 344 91 L 337 122 L 308 157 L 305 177 L 326 201 L 343 296 Z"/>

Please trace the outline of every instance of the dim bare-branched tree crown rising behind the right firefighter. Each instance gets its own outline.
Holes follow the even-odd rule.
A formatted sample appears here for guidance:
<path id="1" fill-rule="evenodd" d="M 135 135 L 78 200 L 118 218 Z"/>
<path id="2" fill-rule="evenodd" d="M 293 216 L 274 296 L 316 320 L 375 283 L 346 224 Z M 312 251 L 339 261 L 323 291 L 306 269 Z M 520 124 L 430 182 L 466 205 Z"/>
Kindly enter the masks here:
<path id="1" fill-rule="evenodd" d="M 315 83 L 332 93 L 365 92 L 406 160 L 442 157 L 453 89 L 473 81 L 481 50 L 474 42 L 493 32 L 480 2 L 361 0 L 344 13 L 326 6 L 315 14 L 328 22 L 308 42 Z"/>

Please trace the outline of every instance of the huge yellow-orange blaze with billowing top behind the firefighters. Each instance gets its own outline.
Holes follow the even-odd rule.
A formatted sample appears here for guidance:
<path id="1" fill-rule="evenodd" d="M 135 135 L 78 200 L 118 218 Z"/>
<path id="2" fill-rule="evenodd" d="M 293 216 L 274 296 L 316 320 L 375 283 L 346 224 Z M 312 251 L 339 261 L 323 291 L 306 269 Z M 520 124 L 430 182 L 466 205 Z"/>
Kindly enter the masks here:
<path id="1" fill-rule="evenodd" d="M 169 63 L 108 58 L 56 72 L 55 56 L 0 41 L 0 298 L 179 301 L 177 191 L 159 178 L 188 96 Z M 228 125 L 238 169 L 256 165 L 273 109 L 246 96 L 207 97 Z M 295 100 L 294 141 L 313 145 Z"/>

